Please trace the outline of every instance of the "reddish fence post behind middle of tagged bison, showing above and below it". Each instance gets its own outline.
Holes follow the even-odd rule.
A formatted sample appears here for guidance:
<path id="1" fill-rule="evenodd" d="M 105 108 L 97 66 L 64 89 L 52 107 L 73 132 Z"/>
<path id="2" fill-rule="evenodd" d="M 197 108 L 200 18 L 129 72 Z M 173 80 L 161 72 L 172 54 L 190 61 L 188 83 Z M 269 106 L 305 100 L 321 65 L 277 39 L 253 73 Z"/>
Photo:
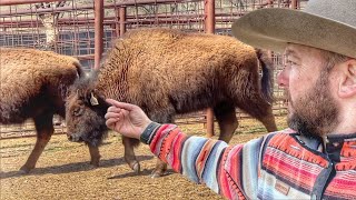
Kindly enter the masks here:
<path id="1" fill-rule="evenodd" d="M 205 11 L 205 32 L 215 33 L 215 0 L 204 1 Z M 207 137 L 214 136 L 214 111 L 212 108 L 207 109 Z"/>

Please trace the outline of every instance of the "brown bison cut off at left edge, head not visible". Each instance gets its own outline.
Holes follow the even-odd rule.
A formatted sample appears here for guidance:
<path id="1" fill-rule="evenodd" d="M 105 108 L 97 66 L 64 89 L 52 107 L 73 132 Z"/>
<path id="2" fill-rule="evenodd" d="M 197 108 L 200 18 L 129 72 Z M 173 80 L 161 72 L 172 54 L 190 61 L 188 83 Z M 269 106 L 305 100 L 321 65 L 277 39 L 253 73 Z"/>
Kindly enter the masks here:
<path id="1" fill-rule="evenodd" d="M 37 142 L 21 171 L 29 172 L 53 133 L 53 114 L 65 117 L 66 94 L 78 76 L 79 61 L 71 57 L 34 49 L 0 48 L 0 123 L 33 119 Z M 98 148 L 90 147 L 91 154 Z M 92 156 L 98 159 L 98 156 Z M 98 164 L 99 160 L 91 160 Z"/>

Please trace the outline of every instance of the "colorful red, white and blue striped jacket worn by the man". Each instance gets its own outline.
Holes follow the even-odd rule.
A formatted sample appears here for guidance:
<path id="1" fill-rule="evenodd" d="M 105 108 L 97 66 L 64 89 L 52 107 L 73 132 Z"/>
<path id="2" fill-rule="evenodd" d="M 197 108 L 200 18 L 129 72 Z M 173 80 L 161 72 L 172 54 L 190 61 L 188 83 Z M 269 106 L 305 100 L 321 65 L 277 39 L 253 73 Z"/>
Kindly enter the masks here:
<path id="1" fill-rule="evenodd" d="M 356 199 L 356 133 L 328 137 L 326 148 L 290 129 L 237 146 L 188 137 L 175 124 L 149 138 L 174 170 L 228 199 Z"/>

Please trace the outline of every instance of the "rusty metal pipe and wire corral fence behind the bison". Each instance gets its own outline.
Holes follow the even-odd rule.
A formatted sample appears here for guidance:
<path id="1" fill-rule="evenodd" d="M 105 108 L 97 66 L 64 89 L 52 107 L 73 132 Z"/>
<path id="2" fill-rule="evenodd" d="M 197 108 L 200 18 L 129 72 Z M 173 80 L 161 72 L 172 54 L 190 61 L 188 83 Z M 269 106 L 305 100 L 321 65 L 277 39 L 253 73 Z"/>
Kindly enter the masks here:
<path id="1" fill-rule="evenodd" d="M 36 48 L 76 57 L 87 71 L 99 68 L 111 41 L 126 31 L 162 27 L 192 32 L 231 33 L 239 17 L 263 8 L 303 9 L 306 0 L 1 0 L 0 47 Z M 270 52 L 275 74 L 281 54 Z M 274 112 L 286 113 L 286 94 L 274 86 Z M 239 119 L 248 118 L 237 110 Z M 56 133 L 66 132 L 59 117 Z M 211 112 L 179 116 L 177 123 L 208 123 Z M 212 123 L 212 124 L 211 124 Z M 31 122 L 0 126 L 0 139 L 34 136 Z"/>

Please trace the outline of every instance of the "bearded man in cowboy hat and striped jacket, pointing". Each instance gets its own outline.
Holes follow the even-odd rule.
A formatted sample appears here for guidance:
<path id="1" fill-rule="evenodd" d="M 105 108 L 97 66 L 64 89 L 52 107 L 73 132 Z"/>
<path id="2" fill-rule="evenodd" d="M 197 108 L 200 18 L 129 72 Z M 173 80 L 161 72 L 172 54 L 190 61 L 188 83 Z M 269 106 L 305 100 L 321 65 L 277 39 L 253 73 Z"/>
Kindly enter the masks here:
<path id="1" fill-rule="evenodd" d="M 260 9 L 238 19 L 233 34 L 285 52 L 277 81 L 289 93 L 290 129 L 228 146 L 115 100 L 107 100 L 107 126 L 228 199 L 356 199 L 356 1 Z"/>

